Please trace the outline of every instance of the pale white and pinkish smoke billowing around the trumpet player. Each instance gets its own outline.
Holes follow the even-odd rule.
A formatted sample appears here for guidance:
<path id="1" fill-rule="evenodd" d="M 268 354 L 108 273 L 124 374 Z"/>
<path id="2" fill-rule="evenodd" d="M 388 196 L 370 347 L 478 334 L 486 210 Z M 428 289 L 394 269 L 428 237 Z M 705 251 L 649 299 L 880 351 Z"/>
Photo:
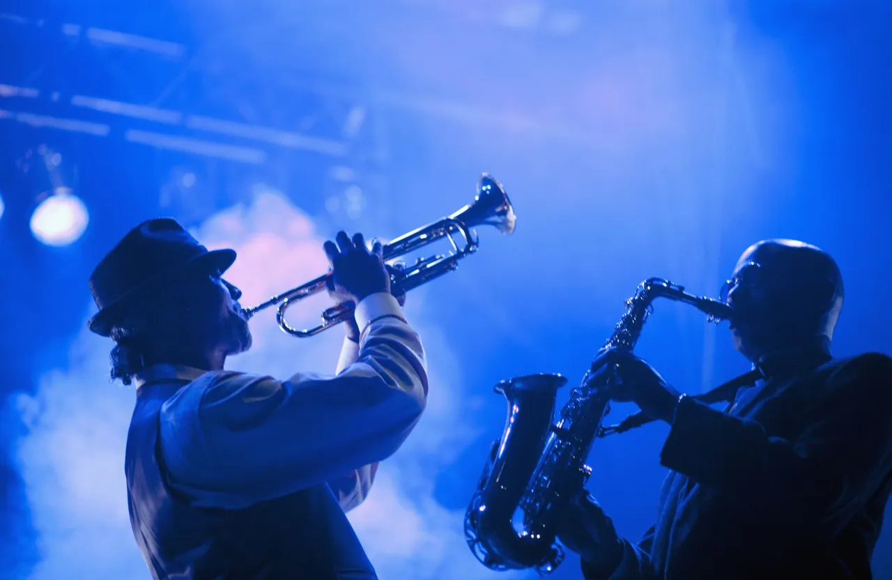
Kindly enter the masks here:
<path id="1" fill-rule="evenodd" d="M 245 304 L 326 271 L 323 238 L 312 220 L 275 192 L 220 211 L 194 235 L 211 249 L 238 252 L 227 279 L 242 288 Z M 323 303 L 293 308 L 289 319 L 296 326 L 315 325 Z M 428 352 L 427 410 L 407 443 L 379 469 L 368 500 L 349 517 L 384 580 L 512 577 L 477 563 L 463 538 L 463 511 L 446 510 L 434 499 L 436 476 L 478 432 L 462 418 L 458 360 L 425 313 L 423 290 L 409 296 L 406 309 Z M 252 320 L 252 331 L 252 350 L 228 368 L 276 377 L 297 370 L 330 373 L 343 340 L 332 330 L 295 341 L 269 311 Z M 147 576 L 130 530 L 123 474 L 134 393 L 109 382 L 110 348 L 85 327 L 71 341 L 67 367 L 45 373 L 37 394 L 17 402 L 28 427 L 18 457 L 41 555 L 34 580 Z"/>

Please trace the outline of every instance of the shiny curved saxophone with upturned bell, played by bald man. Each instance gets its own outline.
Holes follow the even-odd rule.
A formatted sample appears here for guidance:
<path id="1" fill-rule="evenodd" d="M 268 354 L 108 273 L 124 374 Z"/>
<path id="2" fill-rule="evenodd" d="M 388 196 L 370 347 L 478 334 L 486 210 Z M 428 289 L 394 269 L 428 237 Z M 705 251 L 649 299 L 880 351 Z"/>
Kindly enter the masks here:
<path id="1" fill-rule="evenodd" d="M 604 349 L 632 351 L 651 303 L 659 297 L 688 303 L 714 322 L 731 314 L 723 302 L 649 278 L 625 302 L 626 310 Z M 570 392 L 556 424 L 552 424 L 556 398 L 566 377 L 528 375 L 495 386 L 495 392 L 508 401 L 508 418 L 500 440 L 492 443 L 465 514 L 465 539 L 483 566 L 500 571 L 534 568 L 544 575 L 564 559 L 556 540 L 556 518 L 591 476 L 585 460 L 594 440 L 606 433 L 601 422 L 609 411 L 608 387 L 613 380 L 592 377 L 590 368 L 582 385 Z"/>

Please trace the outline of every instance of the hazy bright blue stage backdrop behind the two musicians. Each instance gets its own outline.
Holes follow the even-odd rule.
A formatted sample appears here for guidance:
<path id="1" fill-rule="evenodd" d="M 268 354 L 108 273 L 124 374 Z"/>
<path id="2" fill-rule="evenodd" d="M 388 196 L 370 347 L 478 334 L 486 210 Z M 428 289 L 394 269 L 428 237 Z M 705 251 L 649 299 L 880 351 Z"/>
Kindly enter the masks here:
<path id="1" fill-rule="evenodd" d="M 258 183 L 284 192 L 322 236 L 401 234 L 470 201 L 482 171 L 506 186 L 516 234 L 482 230 L 480 252 L 425 289 L 425 318 L 459 361 L 457 391 L 482 394 L 460 417 L 478 435 L 428 474 L 433 500 L 448 510 L 465 509 L 500 435 L 505 405 L 491 385 L 531 372 L 578 382 L 644 278 L 714 295 L 747 245 L 802 239 L 834 255 L 846 280 L 835 353 L 892 352 L 888 10 L 830 1 L 614 4 L 4 7 L 0 85 L 39 89 L 0 96 L 0 111 L 11 112 L 0 115 L 8 514 L 0 550 L 11 577 L 27 577 L 43 553 L 19 473 L 18 442 L 29 428 L 16 397 L 71 364 L 95 262 L 139 220 L 170 214 L 197 226 L 247 203 Z M 121 46 L 89 29 L 173 44 Z M 343 151 L 97 111 L 73 104 L 74 95 L 300 132 Z M 36 127 L 19 112 L 110 131 Z M 140 145 L 128 141 L 132 130 L 248 147 L 263 161 Z M 87 232 L 68 247 L 40 245 L 29 232 L 48 177 L 22 165 L 40 144 L 62 154 L 58 175 L 90 211 Z M 182 186 L 185 172 L 194 186 Z M 361 211 L 345 209 L 350 186 L 361 189 Z M 747 369 L 724 327 L 673 303 L 657 304 L 638 352 L 690 393 Z M 632 410 L 620 405 L 615 418 Z M 624 534 L 637 536 L 654 516 L 666 429 L 594 447 L 591 490 Z M 888 534 L 874 568 L 892 577 Z M 440 577 L 427 574 L 417 577 Z M 553 577 L 579 577 L 578 568 L 568 562 Z"/>

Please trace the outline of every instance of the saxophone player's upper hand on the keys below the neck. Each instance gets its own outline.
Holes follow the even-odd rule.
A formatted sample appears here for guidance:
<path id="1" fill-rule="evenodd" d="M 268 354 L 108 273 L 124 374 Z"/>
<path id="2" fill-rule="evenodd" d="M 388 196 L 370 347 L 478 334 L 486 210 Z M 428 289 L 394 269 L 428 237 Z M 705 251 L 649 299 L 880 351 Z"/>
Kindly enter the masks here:
<path id="1" fill-rule="evenodd" d="M 614 375 L 608 391 L 613 401 L 634 402 L 649 418 L 672 423 L 681 393 L 666 383 L 648 362 L 632 352 L 607 349 L 599 353 L 592 368 L 592 378 L 596 380 L 602 377 L 601 373 Z"/>

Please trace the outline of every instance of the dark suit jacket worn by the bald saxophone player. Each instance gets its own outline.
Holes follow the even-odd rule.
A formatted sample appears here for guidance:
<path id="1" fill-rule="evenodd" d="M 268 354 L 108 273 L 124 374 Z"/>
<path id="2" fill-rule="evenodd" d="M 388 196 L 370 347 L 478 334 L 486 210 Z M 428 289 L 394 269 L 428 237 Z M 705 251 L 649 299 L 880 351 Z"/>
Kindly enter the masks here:
<path id="1" fill-rule="evenodd" d="M 892 486 L 892 359 L 813 352 L 767 370 L 725 412 L 680 402 L 657 522 L 611 579 L 871 578 Z"/>

